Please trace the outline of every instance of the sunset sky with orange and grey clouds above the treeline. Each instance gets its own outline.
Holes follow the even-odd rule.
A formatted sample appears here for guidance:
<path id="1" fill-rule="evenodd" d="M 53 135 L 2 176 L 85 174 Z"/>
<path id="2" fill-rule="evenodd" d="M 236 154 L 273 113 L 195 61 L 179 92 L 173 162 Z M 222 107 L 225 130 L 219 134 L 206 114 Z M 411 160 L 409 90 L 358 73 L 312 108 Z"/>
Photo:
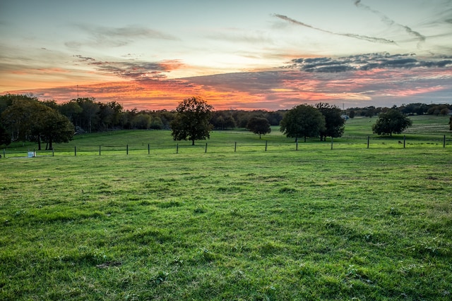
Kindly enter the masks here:
<path id="1" fill-rule="evenodd" d="M 124 109 L 452 104 L 452 0 L 0 0 L 0 94 Z"/>

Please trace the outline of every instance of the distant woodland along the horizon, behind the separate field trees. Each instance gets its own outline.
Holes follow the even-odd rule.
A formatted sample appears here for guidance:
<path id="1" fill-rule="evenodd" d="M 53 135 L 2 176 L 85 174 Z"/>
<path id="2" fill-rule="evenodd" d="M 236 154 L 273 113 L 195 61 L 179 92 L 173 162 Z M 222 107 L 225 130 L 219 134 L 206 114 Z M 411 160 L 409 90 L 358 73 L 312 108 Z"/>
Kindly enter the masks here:
<path id="1" fill-rule="evenodd" d="M 6 94 L 0 96 L 0 114 L 14 102 L 35 100 L 36 97 L 22 94 Z M 118 102 L 97 102 L 93 97 L 72 99 L 69 102 L 57 104 L 53 100 L 40 103 L 59 111 L 73 123 L 76 133 L 93 133 L 105 130 L 120 129 L 169 129 L 176 111 L 167 110 L 125 110 Z M 302 100 L 300 100 L 302 103 Z M 350 108 L 343 110 L 343 115 L 354 118 L 357 116 L 377 116 L 390 108 L 366 106 L 364 108 Z M 404 104 L 398 109 L 408 115 L 447 115 L 452 110 L 451 104 Z M 232 128 L 246 128 L 253 117 L 266 118 L 270 125 L 279 125 L 288 110 L 221 110 L 213 111 L 210 123 L 216 130 Z"/>

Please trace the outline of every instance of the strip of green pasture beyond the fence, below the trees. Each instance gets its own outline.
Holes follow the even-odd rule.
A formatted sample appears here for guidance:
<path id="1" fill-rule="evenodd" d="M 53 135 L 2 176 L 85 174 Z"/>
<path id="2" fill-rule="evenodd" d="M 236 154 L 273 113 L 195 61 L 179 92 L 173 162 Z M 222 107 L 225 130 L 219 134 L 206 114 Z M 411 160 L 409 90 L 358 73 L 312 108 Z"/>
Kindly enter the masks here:
<path id="1" fill-rule="evenodd" d="M 452 145 L 452 132 L 448 130 L 448 116 L 412 116 L 413 125 L 401 135 L 378 136 L 374 135 L 371 126 L 374 118 L 353 118 L 347 121 L 343 137 L 335 138 L 333 148 L 366 148 L 369 137 L 369 147 L 374 148 L 400 148 L 405 136 L 405 147 L 443 147 L 444 136 L 446 145 Z M 50 151 L 37 152 L 39 156 L 78 156 L 83 155 L 124 155 L 124 154 L 173 154 L 180 153 L 229 153 L 229 152 L 259 152 L 267 150 L 272 152 L 285 152 L 296 149 L 295 140 L 285 137 L 278 126 L 272 128 L 272 133 L 263 135 L 259 139 L 244 129 L 213 131 L 209 140 L 191 142 L 172 140 L 170 130 L 118 130 L 105 133 L 76 135 L 69 143 L 54 146 L 54 153 Z M 177 145 L 179 149 L 177 149 Z M 45 145 L 43 145 L 43 148 Z M 331 140 L 319 142 L 318 138 L 308 139 L 306 143 L 299 142 L 302 149 L 331 149 Z M 6 147 L 0 154 L 6 156 L 27 156 L 28 151 L 37 149 L 32 142 L 15 142 Z M 128 152 L 129 151 L 129 152 Z"/>

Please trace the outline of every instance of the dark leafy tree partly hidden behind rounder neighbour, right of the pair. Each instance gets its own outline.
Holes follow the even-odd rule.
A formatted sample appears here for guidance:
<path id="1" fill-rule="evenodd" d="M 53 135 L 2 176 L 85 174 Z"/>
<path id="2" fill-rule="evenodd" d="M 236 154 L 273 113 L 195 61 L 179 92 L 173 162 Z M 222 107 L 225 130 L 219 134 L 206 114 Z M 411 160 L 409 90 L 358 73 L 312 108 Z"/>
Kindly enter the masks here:
<path id="1" fill-rule="evenodd" d="M 326 141 L 326 137 L 342 137 L 345 119 L 342 118 L 339 107 L 319 102 L 316 104 L 316 108 L 325 117 L 325 130 L 320 132 L 320 141 Z"/>

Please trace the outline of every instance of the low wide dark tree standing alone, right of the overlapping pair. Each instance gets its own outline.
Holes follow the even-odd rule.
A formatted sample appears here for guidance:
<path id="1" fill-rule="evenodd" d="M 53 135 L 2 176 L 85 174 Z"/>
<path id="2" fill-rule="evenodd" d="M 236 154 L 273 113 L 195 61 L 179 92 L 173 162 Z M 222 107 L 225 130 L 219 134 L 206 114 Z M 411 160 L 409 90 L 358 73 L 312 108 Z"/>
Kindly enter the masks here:
<path id="1" fill-rule="evenodd" d="M 412 125 L 412 121 L 407 116 L 400 113 L 394 106 L 386 113 L 380 113 L 376 123 L 372 125 L 372 131 L 378 135 L 400 134 Z"/>

